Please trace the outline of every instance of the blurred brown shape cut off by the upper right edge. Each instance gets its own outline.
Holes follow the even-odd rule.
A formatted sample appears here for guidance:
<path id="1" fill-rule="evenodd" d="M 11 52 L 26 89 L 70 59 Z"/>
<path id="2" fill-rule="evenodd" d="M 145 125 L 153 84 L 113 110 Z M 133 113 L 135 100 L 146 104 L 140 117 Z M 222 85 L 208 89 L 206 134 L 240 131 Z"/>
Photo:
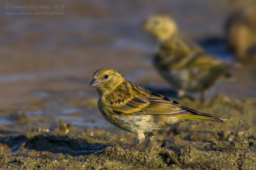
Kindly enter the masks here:
<path id="1" fill-rule="evenodd" d="M 227 19 L 225 31 L 228 46 L 239 62 L 256 60 L 256 3 L 234 11 Z"/>

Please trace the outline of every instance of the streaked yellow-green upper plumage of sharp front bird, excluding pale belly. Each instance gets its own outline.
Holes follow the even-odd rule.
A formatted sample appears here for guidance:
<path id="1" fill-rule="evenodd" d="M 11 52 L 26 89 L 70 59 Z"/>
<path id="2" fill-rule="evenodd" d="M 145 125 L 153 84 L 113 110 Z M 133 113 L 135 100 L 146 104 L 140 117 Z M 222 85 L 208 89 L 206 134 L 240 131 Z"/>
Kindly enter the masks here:
<path id="1" fill-rule="evenodd" d="M 109 78 L 104 80 L 102 78 L 104 74 L 109 74 Z M 93 78 L 100 82 L 97 87 L 100 94 L 99 108 L 104 113 L 166 115 L 180 120 L 214 122 L 225 120 L 225 118 L 192 110 L 160 94 L 154 94 L 136 83 L 125 80 L 122 74 L 113 69 L 99 69 L 93 74 Z"/>

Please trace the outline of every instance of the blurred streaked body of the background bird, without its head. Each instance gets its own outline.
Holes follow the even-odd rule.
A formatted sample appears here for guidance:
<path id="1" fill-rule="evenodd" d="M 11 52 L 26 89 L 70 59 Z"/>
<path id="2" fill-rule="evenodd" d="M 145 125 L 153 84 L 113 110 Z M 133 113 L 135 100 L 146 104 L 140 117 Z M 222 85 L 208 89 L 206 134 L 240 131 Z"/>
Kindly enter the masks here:
<path id="1" fill-rule="evenodd" d="M 159 45 L 154 65 L 174 87 L 190 92 L 208 89 L 225 71 L 220 60 L 178 35 Z"/>

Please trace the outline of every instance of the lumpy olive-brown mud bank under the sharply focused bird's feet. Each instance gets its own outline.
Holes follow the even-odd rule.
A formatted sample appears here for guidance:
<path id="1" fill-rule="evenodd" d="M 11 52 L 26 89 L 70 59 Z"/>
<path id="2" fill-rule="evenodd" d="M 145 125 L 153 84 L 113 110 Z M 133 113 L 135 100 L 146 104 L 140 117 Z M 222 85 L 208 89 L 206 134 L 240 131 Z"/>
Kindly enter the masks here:
<path id="1" fill-rule="evenodd" d="M 28 117 L 24 110 L 8 117 L 19 124 L 22 134 L 15 129 L 12 132 L 1 129 L 0 166 L 4 169 L 255 169 L 256 99 L 239 101 L 215 96 L 204 103 L 188 98 L 179 102 L 228 120 L 225 124 L 191 120 L 166 127 L 156 133 L 148 150 L 140 152 L 145 143 L 124 150 L 134 135 L 111 125 L 81 127 L 60 120 L 47 127 L 42 122 L 49 118 Z M 46 106 L 35 104 L 35 107 Z"/>

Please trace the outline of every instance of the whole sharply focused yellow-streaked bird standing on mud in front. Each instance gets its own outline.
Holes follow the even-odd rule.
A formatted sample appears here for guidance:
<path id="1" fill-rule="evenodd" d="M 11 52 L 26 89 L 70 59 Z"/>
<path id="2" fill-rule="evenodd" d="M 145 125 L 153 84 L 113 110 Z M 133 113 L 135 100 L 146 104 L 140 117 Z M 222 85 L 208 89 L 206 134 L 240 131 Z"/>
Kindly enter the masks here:
<path id="1" fill-rule="evenodd" d="M 136 134 L 136 141 L 127 149 L 145 140 L 154 138 L 154 131 L 186 120 L 209 120 L 223 123 L 225 118 L 201 113 L 182 106 L 177 101 L 155 94 L 125 80 L 113 69 L 99 69 L 93 74 L 91 87 L 99 94 L 98 108 L 102 116 L 111 124 Z"/>

